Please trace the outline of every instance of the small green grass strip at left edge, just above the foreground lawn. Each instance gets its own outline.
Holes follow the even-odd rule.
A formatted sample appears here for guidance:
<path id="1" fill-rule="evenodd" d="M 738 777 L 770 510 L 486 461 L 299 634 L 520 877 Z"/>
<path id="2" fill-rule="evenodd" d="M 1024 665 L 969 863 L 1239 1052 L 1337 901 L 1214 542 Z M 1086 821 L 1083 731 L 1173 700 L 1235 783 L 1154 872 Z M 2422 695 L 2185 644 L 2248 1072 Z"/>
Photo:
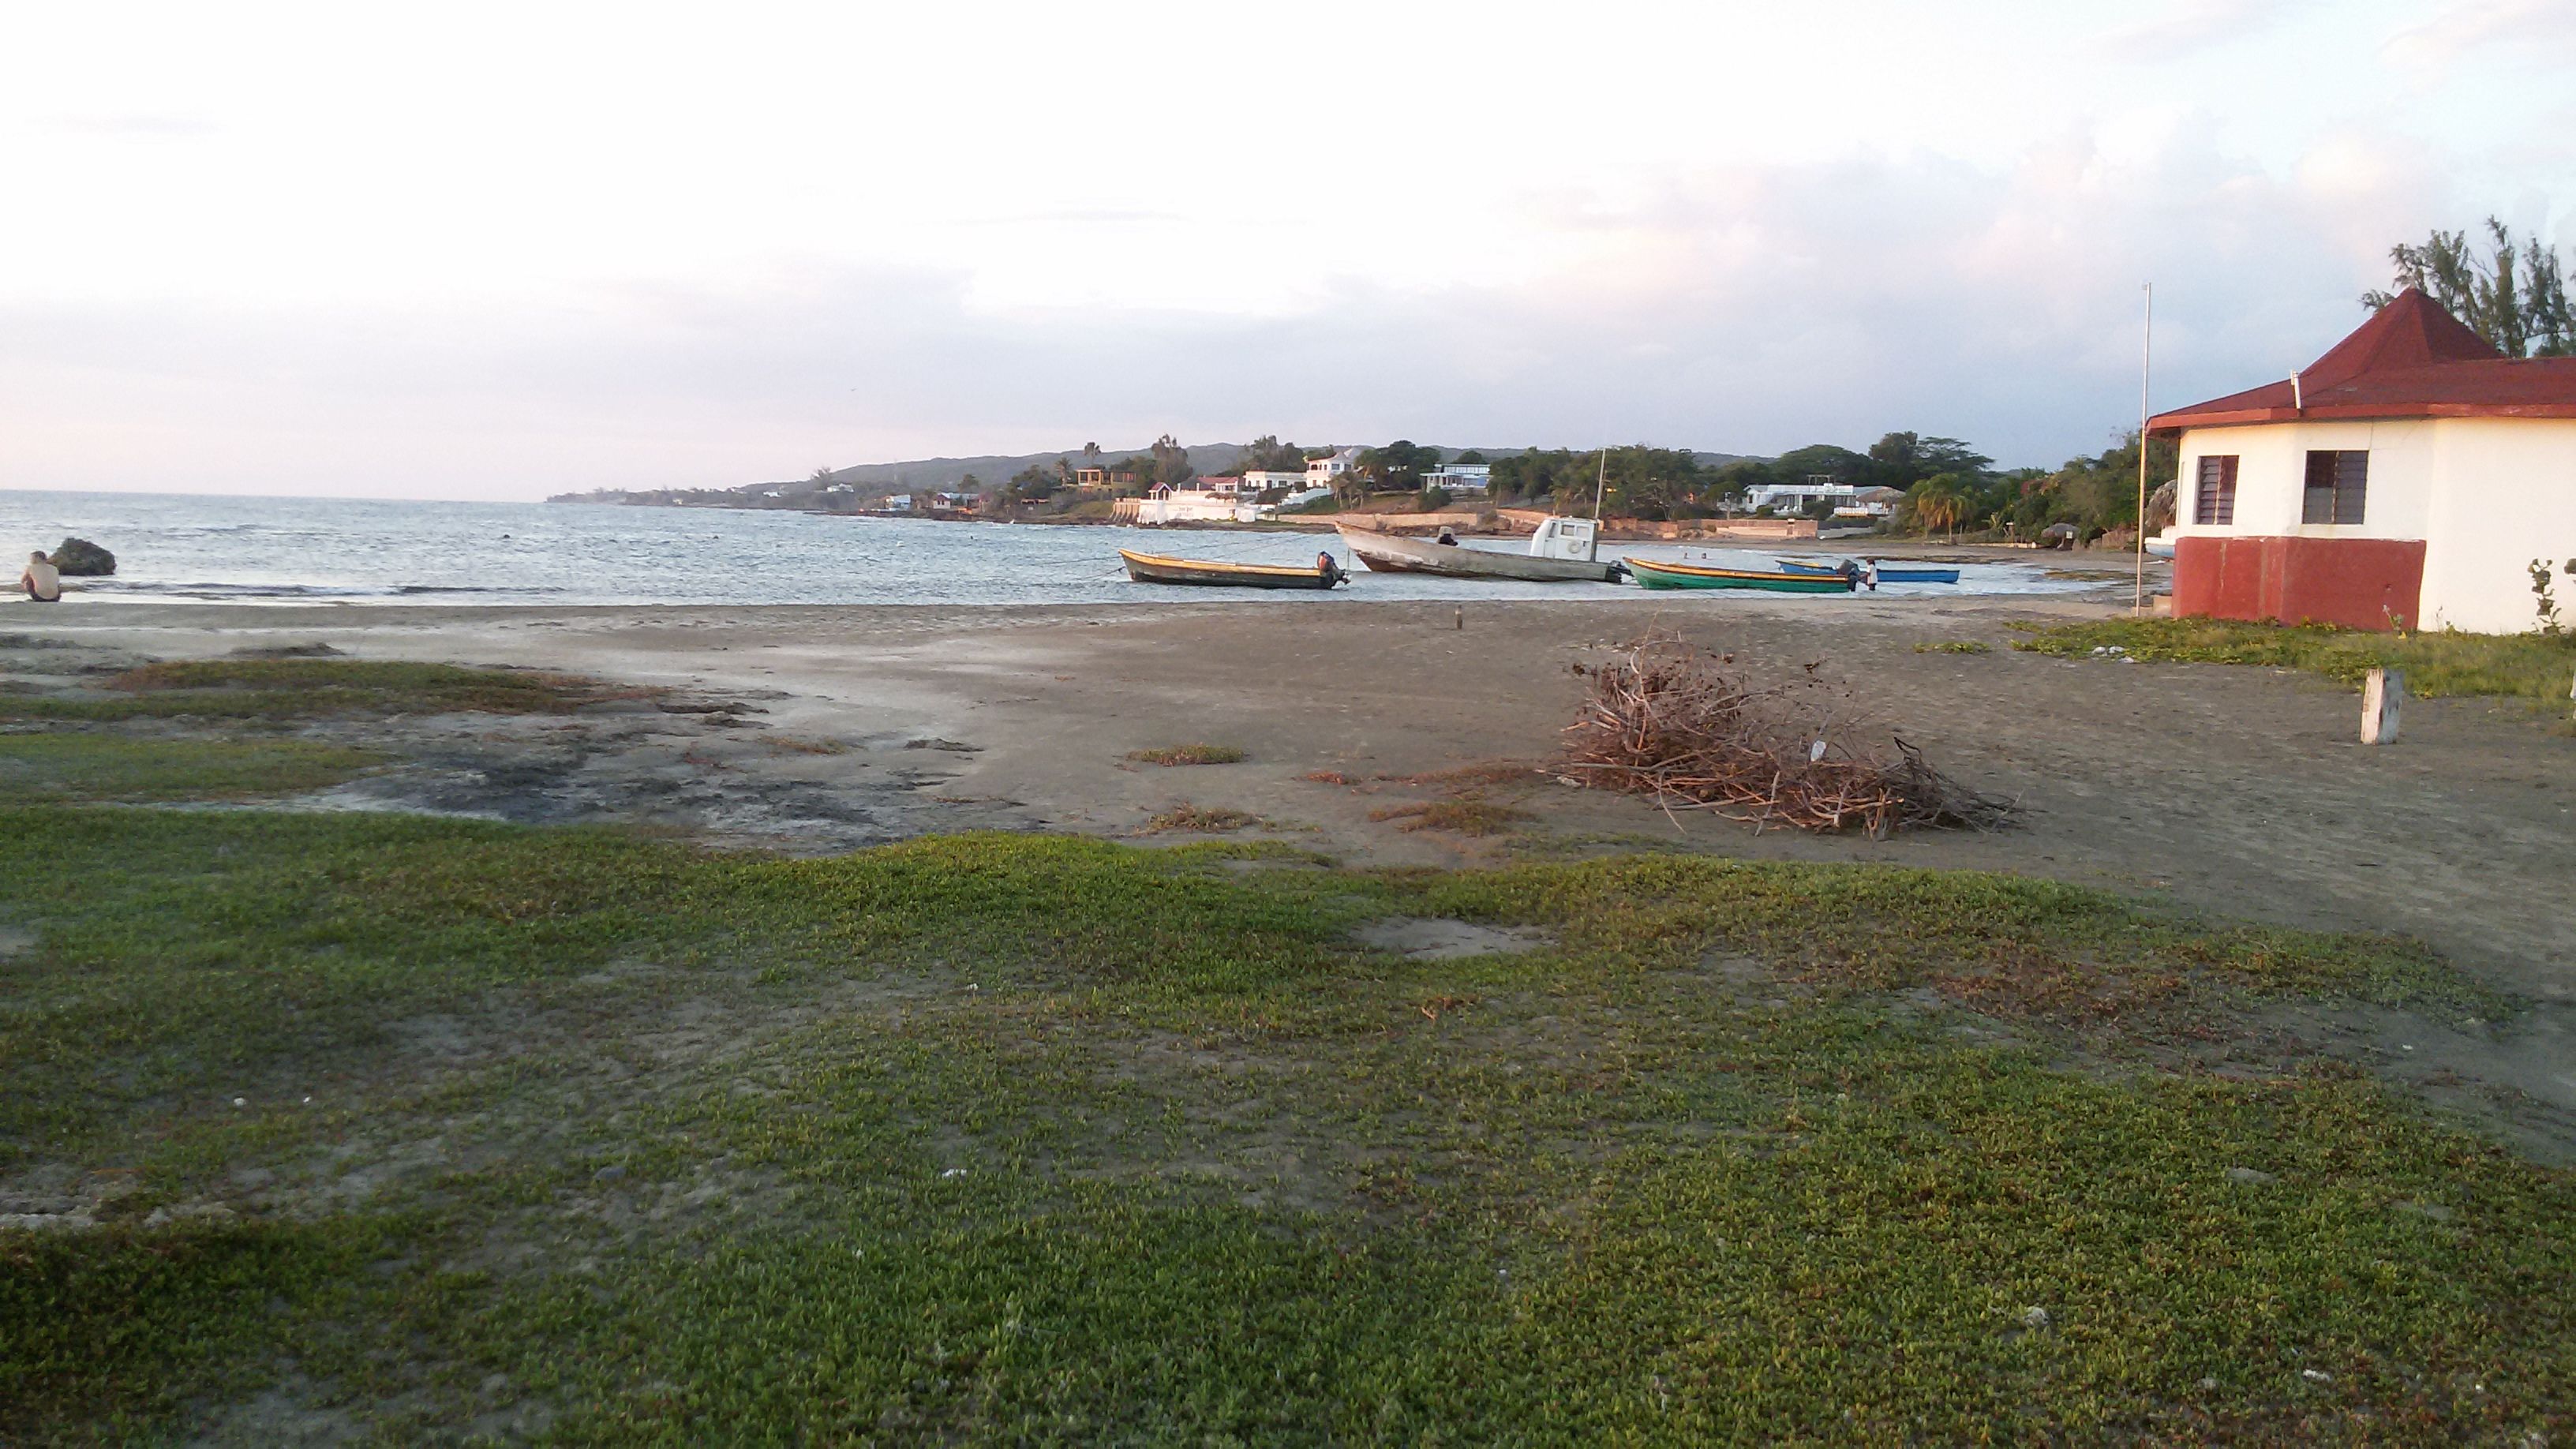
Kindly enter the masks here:
<path id="1" fill-rule="evenodd" d="M 247 799 L 335 786 L 384 763 L 312 740 L 0 735 L 0 804 Z"/>

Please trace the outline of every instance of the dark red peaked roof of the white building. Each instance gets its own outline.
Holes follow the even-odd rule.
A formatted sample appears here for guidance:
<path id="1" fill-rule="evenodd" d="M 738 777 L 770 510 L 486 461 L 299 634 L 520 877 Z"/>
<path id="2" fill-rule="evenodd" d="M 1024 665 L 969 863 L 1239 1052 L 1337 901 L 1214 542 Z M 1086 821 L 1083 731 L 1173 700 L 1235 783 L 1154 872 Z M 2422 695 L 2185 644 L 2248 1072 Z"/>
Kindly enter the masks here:
<path id="1" fill-rule="evenodd" d="M 2576 358 L 2509 358 L 2406 289 L 2290 379 L 2148 420 L 2148 433 L 2349 418 L 2576 418 Z"/>

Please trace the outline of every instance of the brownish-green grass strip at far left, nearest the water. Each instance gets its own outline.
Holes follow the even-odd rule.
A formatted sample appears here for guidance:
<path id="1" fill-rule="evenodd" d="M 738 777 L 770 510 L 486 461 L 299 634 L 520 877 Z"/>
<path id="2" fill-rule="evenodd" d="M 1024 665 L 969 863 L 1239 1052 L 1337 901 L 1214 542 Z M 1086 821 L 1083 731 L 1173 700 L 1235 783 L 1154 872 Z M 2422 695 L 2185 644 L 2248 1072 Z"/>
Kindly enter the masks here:
<path id="1" fill-rule="evenodd" d="M 569 714 L 649 691 L 600 681 L 397 660 L 175 660 L 90 696 L 0 696 L 0 719 L 314 719 L 327 714 Z"/>

